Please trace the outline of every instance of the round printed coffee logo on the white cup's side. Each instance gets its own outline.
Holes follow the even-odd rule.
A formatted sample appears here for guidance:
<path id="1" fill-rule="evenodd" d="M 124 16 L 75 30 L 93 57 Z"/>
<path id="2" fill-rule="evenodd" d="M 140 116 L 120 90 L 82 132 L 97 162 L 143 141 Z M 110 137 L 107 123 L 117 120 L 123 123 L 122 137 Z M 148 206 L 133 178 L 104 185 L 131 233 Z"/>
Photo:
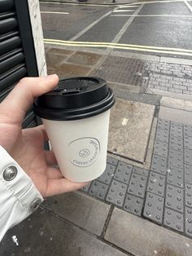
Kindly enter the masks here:
<path id="1" fill-rule="evenodd" d="M 68 144 L 68 152 L 69 161 L 74 166 L 91 166 L 98 159 L 100 143 L 91 137 L 76 139 Z"/>

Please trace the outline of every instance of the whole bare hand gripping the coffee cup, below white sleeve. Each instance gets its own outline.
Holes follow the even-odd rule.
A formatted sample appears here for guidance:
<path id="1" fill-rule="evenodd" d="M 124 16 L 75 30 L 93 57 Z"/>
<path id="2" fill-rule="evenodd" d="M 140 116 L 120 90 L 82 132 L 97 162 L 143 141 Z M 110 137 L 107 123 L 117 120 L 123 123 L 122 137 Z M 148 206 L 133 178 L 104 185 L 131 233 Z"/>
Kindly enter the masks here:
<path id="1" fill-rule="evenodd" d="M 6 99 L 0 104 L 0 145 L 15 159 L 33 180 L 42 196 L 70 192 L 86 183 L 73 183 L 64 179 L 53 152 L 43 149 L 48 140 L 44 126 L 21 128 L 28 108 L 36 97 L 57 86 L 57 75 L 27 77 L 20 80 Z"/>

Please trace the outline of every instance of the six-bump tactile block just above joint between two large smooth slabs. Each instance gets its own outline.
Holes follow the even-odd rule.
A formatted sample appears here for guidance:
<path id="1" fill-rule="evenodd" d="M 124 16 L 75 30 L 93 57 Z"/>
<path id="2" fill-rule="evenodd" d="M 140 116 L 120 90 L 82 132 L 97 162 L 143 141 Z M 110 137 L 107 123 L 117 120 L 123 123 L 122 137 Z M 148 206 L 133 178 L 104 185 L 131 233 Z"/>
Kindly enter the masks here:
<path id="1" fill-rule="evenodd" d="M 113 180 L 109 192 L 107 193 L 106 201 L 122 207 L 124 204 L 124 197 L 127 191 L 128 185 Z"/>

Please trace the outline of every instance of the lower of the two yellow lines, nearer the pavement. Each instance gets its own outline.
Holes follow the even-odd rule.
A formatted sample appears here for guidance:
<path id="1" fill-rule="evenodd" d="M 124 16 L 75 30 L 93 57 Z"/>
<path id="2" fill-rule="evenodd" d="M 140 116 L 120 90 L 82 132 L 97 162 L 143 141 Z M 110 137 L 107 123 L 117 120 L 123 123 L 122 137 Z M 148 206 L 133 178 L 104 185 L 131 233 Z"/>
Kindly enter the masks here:
<path id="1" fill-rule="evenodd" d="M 113 49 L 121 49 L 121 50 L 132 50 L 132 51 L 147 51 L 147 52 L 156 52 L 156 53 L 168 53 L 170 55 L 187 55 L 192 56 L 192 53 L 189 52 L 181 52 L 181 51 L 162 51 L 162 50 L 153 50 L 146 48 L 138 48 L 138 47 L 129 47 L 129 46 L 110 46 L 110 45 L 96 45 L 96 44 L 78 44 L 78 43 L 62 43 L 62 42 L 47 42 L 48 44 L 59 45 L 59 46 L 79 46 L 79 47 L 103 47 L 103 48 L 113 48 Z"/>

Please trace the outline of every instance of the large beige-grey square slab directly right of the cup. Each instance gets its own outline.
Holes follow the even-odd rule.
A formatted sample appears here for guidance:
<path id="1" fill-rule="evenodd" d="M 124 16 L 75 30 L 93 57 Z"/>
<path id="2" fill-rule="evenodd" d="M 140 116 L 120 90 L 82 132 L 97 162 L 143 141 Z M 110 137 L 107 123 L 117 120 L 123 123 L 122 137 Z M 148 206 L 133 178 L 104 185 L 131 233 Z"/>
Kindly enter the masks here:
<path id="1" fill-rule="evenodd" d="M 116 99 L 111 109 L 108 151 L 144 162 L 154 111 L 149 104 Z"/>

